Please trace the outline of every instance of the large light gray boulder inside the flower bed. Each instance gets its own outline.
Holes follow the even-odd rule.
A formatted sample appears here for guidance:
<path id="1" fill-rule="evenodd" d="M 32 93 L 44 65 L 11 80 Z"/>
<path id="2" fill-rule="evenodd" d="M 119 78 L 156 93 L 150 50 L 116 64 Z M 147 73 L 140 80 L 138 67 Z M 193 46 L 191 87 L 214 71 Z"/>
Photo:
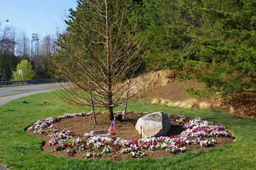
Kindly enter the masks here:
<path id="1" fill-rule="evenodd" d="M 143 138 L 151 136 L 167 136 L 171 122 L 163 111 L 151 113 L 138 119 L 135 129 Z"/>

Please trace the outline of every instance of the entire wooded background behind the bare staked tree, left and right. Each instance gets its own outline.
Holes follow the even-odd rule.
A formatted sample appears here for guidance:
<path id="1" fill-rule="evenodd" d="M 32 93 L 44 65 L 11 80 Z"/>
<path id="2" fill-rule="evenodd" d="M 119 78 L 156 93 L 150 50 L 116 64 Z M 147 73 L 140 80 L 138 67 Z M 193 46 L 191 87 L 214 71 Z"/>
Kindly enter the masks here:
<path id="1" fill-rule="evenodd" d="M 77 9 L 70 10 L 66 20 L 67 30 L 62 35 L 83 34 L 82 30 L 88 29 L 87 26 L 101 27 L 96 20 L 89 18 L 89 9 L 93 9 L 88 7 L 90 4 L 78 2 Z M 115 8 L 121 2 L 131 3 L 127 9 L 129 15 L 123 15 L 123 29 L 129 31 L 130 24 L 136 20 L 138 27 L 134 37 L 139 34 L 142 42 L 146 40 L 144 47 L 151 48 L 143 56 L 137 72 L 157 65 L 158 69 L 174 69 L 180 80 L 193 78 L 205 83 L 205 88 L 201 90 L 187 89 L 188 93 L 200 96 L 209 96 L 214 92 L 222 92 L 226 96 L 233 92 L 255 91 L 255 1 L 114 0 L 109 2 L 110 13 L 118 10 Z M 85 20 L 88 24 L 80 23 Z M 75 24 L 76 30 L 72 30 Z M 98 36 L 97 32 L 91 31 L 92 34 Z M 34 44 L 31 44 L 24 32 L 18 36 L 14 28 L 7 27 L 1 30 L 0 38 L 0 80 L 10 80 L 8 73 L 20 58 L 32 61 L 36 78 L 49 76 L 51 62 L 48 59 L 53 53 L 58 53 L 56 49 L 59 48 L 55 44 L 56 36 L 34 39 Z M 2 49 L 6 40 L 13 43 L 7 53 Z M 100 40 L 95 39 L 95 42 Z M 81 43 L 73 49 L 82 52 L 86 51 L 84 47 L 92 45 L 86 39 Z M 143 50 L 146 49 L 142 49 L 138 57 Z M 65 56 L 65 50 L 60 52 Z M 84 57 L 89 60 L 89 56 Z"/>

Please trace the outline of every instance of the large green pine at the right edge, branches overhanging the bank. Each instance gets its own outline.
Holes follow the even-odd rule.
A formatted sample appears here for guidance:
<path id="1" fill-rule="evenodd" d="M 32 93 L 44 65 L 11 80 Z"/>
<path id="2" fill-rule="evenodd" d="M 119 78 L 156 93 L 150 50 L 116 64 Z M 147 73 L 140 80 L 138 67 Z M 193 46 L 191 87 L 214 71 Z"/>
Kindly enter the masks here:
<path id="1" fill-rule="evenodd" d="M 216 4 L 221 5 L 216 5 Z M 189 28 L 193 55 L 188 62 L 196 74 L 188 76 L 205 83 L 206 90 L 234 92 L 255 89 L 254 1 L 205 2 L 199 9 L 203 25 Z M 186 68 L 186 67 L 185 67 Z"/>

